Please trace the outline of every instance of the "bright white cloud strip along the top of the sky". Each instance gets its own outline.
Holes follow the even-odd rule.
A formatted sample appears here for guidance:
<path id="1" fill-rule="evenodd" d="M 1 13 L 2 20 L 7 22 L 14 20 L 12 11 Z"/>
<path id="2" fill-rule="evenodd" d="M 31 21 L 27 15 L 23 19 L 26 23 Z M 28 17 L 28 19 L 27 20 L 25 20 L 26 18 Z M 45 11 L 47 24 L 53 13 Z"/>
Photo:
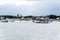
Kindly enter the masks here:
<path id="1" fill-rule="evenodd" d="M 0 0 L 0 5 L 4 5 L 4 4 L 16 4 L 16 5 L 23 5 L 23 4 L 33 4 L 35 3 L 37 0 Z M 41 2 L 41 1 L 38 1 Z"/>

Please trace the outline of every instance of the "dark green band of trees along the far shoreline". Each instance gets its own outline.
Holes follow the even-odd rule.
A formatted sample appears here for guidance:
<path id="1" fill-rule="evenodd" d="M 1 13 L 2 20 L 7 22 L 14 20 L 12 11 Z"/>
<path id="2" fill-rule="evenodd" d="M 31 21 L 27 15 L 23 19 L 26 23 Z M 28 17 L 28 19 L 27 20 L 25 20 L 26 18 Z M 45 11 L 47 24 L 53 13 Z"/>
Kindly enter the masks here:
<path id="1" fill-rule="evenodd" d="M 32 18 L 33 20 L 36 19 L 37 17 L 41 17 L 41 16 L 22 16 L 22 15 L 19 15 L 17 14 L 17 16 L 13 16 L 13 15 L 0 15 L 0 17 L 4 17 L 4 18 L 18 18 L 18 19 L 21 19 L 21 18 Z M 56 16 L 56 15 L 47 15 L 47 16 L 42 16 L 42 17 L 48 17 L 49 19 L 56 19 L 60 16 Z"/>

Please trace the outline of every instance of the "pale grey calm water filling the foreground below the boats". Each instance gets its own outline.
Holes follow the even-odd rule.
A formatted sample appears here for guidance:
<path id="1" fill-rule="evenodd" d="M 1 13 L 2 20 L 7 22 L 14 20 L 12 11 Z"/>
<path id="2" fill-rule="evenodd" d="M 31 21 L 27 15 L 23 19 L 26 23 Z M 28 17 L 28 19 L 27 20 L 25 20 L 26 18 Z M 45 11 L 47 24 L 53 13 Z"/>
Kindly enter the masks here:
<path id="1" fill-rule="evenodd" d="M 60 22 L 0 22 L 0 40 L 60 40 Z"/>

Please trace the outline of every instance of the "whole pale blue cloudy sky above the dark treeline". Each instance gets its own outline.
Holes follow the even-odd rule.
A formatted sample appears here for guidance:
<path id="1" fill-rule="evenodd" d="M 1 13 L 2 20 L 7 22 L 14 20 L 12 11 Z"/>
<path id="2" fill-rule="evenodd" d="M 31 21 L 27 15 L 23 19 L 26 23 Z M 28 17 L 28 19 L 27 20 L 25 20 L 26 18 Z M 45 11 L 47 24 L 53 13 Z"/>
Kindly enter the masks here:
<path id="1" fill-rule="evenodd" d="M 60 15 L 60 0 L 0 0 L 0 15 Z"/>

